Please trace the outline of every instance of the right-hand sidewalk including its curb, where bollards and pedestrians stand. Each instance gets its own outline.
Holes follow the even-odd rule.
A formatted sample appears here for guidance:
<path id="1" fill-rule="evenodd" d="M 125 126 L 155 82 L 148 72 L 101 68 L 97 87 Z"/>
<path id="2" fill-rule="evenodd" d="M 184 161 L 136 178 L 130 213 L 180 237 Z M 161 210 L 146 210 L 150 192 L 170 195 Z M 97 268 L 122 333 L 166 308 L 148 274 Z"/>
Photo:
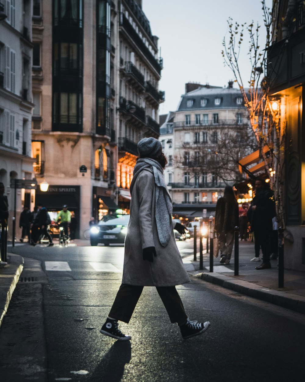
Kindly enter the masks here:
<path id="1" fill-rule="evenodd" d="M 214 258 L 214 272 L 209 272 L 209 254 L 204 254 L 203 270 L 199 270 L 199 252 L 197 261 L 191 255 L 183 262 L 193 277 L 305 314 L 305 272 L 285 269 L 284 288 L 278 288 L 278 261 L 270 261 L 271 269 L 257 270 L 255 267 L 261 263 L 250 261 L 253 257 L 254 244 L 239 241 L 238 276 L 234 276 L 234 249 L 229 265 L 220 264 L 220 257 Z"/>

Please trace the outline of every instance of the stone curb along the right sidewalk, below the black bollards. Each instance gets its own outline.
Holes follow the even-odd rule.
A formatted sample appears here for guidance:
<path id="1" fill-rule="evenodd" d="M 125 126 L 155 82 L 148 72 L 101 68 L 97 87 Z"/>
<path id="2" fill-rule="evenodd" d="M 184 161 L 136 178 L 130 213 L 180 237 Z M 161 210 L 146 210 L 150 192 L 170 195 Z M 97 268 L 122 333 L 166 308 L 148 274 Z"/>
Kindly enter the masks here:
<path id="1" fill-rule="evenodd" d="M 305 314 L 305 297 L 303 296 L 296 296 L 279 290 L 269 289 L 243 280 L 235 280 L 231 276 L 216 272 L 203 272 L 191 276 L 209 283 L 220 285 L 223 288 L 234 290 L 238 293 L 242 293 L 243 295 L 254 297 L 267 301 L 268 303 L 279 305 L 283 308 Z"/>

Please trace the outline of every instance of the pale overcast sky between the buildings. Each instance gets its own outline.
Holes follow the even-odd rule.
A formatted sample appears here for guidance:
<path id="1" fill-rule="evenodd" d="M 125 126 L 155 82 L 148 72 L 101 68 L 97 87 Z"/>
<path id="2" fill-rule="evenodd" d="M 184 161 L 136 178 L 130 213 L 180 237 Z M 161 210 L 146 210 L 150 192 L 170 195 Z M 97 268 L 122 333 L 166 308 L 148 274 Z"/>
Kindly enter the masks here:
<path id="1" fill-rule="evenodd" d="M 272 0 L 266 3 L 271 6 Z M 264 32 L 261 0 L 143 0 L 142 9 L 152 34 L 159 37 L 163 57 L 159 89 L 165 91 L 165 102 L 160 105 L 160 114 L 177 110 L 189 81 L 227 86 L 234 79 L 221 55 L 229 17 L 238 23 L 258 21 L 262 36 Z M 246 33 L 244 36 L 240 67 L 246 83 L 250 77 L 249 39 Z"/>

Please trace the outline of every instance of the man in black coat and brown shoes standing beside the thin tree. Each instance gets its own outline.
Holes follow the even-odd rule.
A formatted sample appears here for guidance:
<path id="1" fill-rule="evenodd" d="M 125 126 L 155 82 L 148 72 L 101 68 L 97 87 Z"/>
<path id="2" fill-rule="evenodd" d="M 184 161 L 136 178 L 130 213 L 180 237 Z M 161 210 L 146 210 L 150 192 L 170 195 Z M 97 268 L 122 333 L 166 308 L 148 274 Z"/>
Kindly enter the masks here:
<path id="1" fill-rule="evenodd" d="M 275 216 L 274 196 L 270 189 L 264 188 L 263 179 L 255 180 L 255 197 L 253 198 L 247 217 L 251 224 L 251 231 L 257 244 L 262 248 L 263 263 L 256 269 L 271 268 L 269 239 L 272 232 L 272 219 Z"/>

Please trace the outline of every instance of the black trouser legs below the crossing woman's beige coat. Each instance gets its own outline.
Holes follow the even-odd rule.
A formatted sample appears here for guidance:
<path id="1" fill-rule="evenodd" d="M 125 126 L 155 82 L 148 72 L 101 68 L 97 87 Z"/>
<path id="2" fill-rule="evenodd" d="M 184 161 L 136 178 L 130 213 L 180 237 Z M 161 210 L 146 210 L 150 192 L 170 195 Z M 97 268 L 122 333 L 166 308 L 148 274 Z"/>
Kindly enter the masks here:
<path id="1" fill-rule="evenodd" d="M 186 316 L 175 286 L 156 286 L 156 288 L 169 315 L 170 322 L 177 322 L 178 325 L 184 324 L 188 316 Z M 128 324 L 142 291 L 143 286 L 121 284 L 109 312 L 109 317 Z"/>

